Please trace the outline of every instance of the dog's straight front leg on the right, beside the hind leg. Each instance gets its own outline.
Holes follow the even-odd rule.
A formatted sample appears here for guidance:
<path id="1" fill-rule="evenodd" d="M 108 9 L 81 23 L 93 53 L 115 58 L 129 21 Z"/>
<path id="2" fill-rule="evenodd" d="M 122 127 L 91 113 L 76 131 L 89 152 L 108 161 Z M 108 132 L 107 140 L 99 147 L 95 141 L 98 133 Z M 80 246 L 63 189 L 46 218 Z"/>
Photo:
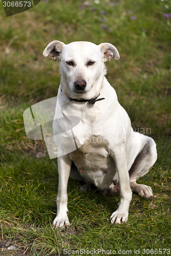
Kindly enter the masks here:
<path id="1" fill-rule="evenodd" d="M 129 216 L 129 206 L 132 199 L 132 191 L 130 188 L 129 172 L 127 170 L 125 145 L 117 146 L 112 151 L 112 157 L 115 160 L 119 176 L 120 186 L 120 202 L 118 209 L 113 212 L 111 223 L 124 223 Z"/>

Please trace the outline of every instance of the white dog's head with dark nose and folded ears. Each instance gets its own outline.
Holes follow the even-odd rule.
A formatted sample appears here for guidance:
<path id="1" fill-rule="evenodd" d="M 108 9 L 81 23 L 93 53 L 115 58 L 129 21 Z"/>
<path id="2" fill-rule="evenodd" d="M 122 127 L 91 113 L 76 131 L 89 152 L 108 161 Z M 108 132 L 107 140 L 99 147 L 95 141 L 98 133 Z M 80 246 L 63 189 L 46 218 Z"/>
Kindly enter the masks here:
<path id="1" fill-rule="evenodd" d="M 94 91 L 91 94 L 97 96 L 96 91 L 104 76 L 104 62 L 112 58 L 119 59 L 119 53 L 113 45 L 95 45 L 86 41 L 71 42 L 68 45 L 52 41 L 43 54 L 45 57 L 50 54 L 53 60 L 60 61 L 62 91 L 69 90 L 69 96 L 78 98 L 90 91 Z"/>

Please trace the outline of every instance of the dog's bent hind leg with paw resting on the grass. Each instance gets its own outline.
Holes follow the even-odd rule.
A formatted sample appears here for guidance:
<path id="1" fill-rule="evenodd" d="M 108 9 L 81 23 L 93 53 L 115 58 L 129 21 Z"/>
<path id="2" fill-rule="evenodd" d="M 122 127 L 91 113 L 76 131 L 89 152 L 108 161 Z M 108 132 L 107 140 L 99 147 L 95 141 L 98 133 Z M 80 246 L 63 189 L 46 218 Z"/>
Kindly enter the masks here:
<path id="1" fill-rule="evenodd" d="M 146 142 L 142 150 L 137 155 L 133 165 L 129 170 L 130 187 L 140 196 L 151 199 L 153 198 L 152 188 L 144 185 L 137 184 L 136 180 L 144 176 L 149 168 L 151 168 L 157 160 L 156 143 L 150 137 L 146 137 Z"/>

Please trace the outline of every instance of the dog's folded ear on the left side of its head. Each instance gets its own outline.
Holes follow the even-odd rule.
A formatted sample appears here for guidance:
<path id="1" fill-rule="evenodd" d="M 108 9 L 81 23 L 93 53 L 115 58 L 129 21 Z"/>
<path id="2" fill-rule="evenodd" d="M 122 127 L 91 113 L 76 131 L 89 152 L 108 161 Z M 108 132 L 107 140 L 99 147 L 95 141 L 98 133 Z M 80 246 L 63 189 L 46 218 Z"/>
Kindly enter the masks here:
<path id="1" fill-rule="evenodd" d="M 60 41 L 52 41 L 50 44 L 45 48 L 43 55 L 48 57 L 49 53 L 52 56 L 53 60 L 60 61 L 62 49 L 65 47 L 65 44 Z"/>

